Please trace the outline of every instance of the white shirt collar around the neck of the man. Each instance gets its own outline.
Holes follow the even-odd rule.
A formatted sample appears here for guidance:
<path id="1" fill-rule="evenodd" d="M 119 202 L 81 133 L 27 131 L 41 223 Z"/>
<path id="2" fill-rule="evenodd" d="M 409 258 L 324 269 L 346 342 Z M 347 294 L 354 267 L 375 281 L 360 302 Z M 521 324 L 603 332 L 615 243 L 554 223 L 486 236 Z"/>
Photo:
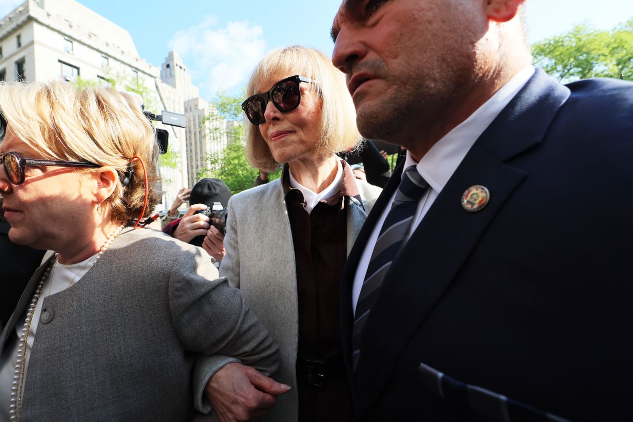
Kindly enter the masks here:
<path id="1" fill-rule="evenodd" d="M 492 120 L 510 103 L 533 74 L 534 66 L 522 68 L 486 103 L 437 141 L 419 163 L 415 162 L 407 151 L 404 169 L 417 165 L 418 172 L 429 186 L 437 193 L 441 192 L 477 138 L 484 133 Z"/>

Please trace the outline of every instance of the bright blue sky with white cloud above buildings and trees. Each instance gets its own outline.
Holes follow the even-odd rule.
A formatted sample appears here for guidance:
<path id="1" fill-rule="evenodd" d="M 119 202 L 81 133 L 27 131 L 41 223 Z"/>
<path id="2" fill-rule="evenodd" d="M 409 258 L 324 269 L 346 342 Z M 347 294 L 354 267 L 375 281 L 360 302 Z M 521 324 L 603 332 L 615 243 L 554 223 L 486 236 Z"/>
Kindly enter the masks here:
<path id="1" fill-rule="evenodd" d="M 53 0 L 47 0 L 53 1 Z M 396 0 L 397 1 L 397 0 Z M 0 0 L 0 15 L 22 3 Z M 303 44 L 332 53 L 329 29 L 341 0 L 79 0 L 127 29 L 142 58 L 160 66 L 176 49 L 210 99 L 220 87 L 239 92 L 270 49 Z M 611 28 L 633 18 L 633 0 L 527 0 L 530 42 L 575 23 Z"/>

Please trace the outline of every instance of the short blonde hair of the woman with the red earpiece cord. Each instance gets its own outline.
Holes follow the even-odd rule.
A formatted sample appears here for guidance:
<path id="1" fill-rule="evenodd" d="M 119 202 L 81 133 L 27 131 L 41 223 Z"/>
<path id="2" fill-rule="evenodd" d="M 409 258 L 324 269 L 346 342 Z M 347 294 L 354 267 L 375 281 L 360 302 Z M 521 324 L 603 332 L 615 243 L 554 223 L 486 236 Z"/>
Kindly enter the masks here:
<path id="1" fill-rule="evenodd" d="M 131 95 L 111 88 L 75 89 L 67 82 L 0 84 L 0 113 L 11 132 L 49 160 L 87 161 L 113 167 L 115 191 L 102 207 L 116 224 L 147 217 L 160 201 L 158 145 L 154 127 Z M 142 159 L 147 171 L 147 208 Z M 120 182 L 128 167 L 132 180 Z M 94 172 L 99 169 L 81 169 Z"/>

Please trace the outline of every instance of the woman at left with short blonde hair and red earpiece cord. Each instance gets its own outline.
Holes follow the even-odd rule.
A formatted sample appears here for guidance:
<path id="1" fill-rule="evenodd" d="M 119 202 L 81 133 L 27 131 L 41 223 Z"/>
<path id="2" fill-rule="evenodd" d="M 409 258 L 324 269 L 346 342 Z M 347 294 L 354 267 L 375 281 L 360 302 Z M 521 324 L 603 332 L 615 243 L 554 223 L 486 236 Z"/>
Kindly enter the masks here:
<path id="1" fill-rule="evenodd" d="M 55 251 L 0 336 L 0 419 L 191 420 L 197 354 L 275 368 L 265 328 L 201 248 L 128 227 L 160 197 L 154 129 L 132 96 L 0 84 L 0 112 L 9 237 Z"/>

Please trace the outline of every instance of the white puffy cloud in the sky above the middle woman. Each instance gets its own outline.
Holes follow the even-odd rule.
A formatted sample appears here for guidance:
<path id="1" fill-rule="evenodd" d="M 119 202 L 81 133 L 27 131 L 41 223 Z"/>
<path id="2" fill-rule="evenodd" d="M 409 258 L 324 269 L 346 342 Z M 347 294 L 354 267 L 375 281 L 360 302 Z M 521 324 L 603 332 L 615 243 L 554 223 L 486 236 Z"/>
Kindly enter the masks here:
<path id="1" fill-rule="evenodd" d="M 205 16 L 198 25 L 176 32 L 168 44 L 182 56 L 206 98 L 245 84 L 266 51 L 262 27 L 241 21 L 218 29 L 217 23 L 215 16 Z"/>

